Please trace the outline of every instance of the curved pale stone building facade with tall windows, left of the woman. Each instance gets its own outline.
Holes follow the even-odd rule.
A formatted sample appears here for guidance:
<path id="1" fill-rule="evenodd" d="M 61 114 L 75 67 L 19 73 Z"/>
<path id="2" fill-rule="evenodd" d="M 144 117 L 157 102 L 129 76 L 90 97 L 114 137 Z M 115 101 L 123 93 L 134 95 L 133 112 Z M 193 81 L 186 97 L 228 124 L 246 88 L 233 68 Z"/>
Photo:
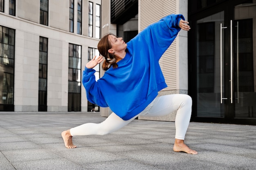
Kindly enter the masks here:
<path id="1" fill-rule="evenodd" d="M 100 0 L 0 0 L 0 111 L 88 111 L 81 73 L 99 53 L 100 10 Z"/>

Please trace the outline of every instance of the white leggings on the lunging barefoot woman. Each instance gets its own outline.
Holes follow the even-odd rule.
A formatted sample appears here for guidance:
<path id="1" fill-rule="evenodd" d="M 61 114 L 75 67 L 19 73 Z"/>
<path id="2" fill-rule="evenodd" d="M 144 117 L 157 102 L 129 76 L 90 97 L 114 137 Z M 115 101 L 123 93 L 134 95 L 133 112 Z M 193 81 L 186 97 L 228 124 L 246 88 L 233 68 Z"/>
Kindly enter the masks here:
<path id="1" fill-rule="evenodd" d="M 175 139 L 184 140 L 186 130 L 191 117 L 192 99 L 189 95 L 174 94 L 156 97 L 139 115 L 145 117 L 164 116 L 177 110 L 175 118 Z M 137 116 L 130 120 L 123 120 L 115 113 L 100 124 L 87 123 L 70 129 L 72 136 L 82 135 L 106 135 L 129 124 Z"/>

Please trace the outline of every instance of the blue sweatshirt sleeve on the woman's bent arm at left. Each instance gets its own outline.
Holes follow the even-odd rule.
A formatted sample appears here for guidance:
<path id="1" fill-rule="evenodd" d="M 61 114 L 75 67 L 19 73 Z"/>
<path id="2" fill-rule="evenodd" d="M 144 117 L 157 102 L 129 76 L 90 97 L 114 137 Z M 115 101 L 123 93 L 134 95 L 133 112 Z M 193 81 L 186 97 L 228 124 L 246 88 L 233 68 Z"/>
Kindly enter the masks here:
<path id="1" fill-rule="evenodd" d="M 83 86 L 85 87 L 86 96 L 89 102 L 93 104 L 97 104 L 101 107 L 108 107 L 103 95 L 101 94 L 101 90 L 99 84 L 95 81 L 95 70 L 88 69 L 85 67 L 83 71 Z"/>

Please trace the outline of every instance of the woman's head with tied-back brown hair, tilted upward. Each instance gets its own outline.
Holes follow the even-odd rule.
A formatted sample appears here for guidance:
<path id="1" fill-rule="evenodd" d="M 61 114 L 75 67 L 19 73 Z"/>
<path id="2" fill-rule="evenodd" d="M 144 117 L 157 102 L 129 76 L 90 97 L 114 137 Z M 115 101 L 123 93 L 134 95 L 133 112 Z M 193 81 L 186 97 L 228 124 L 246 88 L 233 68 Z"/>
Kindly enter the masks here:
<path id="1" fill-rule="evenodd" d="M 99 53 L 105 57 L 105 61 L 103 62 L 102 68 L 103 70 L 108 70 L 110 66 L 113 68 L 117 68 L 117 61 L 119 60 L 119 56 L 115 55 L 120 51 L 125 51 L 126 44 L 123 38 L 117 38 L 116 35 L 112 33 L 108 33 L 98 43 Z"/>

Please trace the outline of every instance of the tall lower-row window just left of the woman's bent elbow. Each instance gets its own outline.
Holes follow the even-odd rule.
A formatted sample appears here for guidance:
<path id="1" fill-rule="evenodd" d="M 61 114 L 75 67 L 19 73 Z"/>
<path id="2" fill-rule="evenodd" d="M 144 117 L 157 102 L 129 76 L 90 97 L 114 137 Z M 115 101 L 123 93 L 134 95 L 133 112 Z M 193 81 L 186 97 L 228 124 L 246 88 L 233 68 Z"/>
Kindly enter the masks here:
<path id="1" fill-rule="evenodd" d="M 81 46 L 69 44 L 68 111 L 81 111 Z"/>

